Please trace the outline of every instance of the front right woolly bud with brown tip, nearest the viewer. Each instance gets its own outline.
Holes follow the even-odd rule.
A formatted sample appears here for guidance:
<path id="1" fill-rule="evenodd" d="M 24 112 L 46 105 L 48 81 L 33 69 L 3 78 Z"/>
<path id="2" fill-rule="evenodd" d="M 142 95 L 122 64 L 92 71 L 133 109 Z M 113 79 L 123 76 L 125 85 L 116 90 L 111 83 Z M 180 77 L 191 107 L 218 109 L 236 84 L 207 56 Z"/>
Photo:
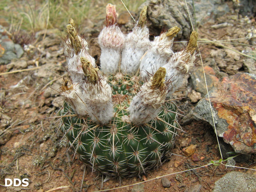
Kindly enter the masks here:
<path id="1" fill-rule="evenodd" d="M 148 82 L 145 82 L 140 91 L 132 99 L 129 107 L 130 121 L 141 125 L 154 119 L 165 102 L 167 89 L 165 84 L 166 69 L 160 67 Z"/>

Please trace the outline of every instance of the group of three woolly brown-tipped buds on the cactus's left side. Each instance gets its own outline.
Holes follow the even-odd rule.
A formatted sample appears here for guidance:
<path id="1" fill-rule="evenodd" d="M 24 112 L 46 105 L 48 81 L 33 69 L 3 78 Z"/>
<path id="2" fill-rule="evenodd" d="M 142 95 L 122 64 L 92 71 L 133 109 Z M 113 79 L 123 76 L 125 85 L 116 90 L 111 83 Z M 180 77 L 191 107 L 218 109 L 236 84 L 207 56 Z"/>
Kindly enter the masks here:
<path id="1" fill-rule="evenodd" d="M 78 115 L 89 115 L 93 121 L 106 124 L 113 117 L 111 87 L 88 53 L 88 44 L 76 32 L 72 19 L 67 33 L 64 54 L 71 85 L 64 80 L 61 94 Z"/>

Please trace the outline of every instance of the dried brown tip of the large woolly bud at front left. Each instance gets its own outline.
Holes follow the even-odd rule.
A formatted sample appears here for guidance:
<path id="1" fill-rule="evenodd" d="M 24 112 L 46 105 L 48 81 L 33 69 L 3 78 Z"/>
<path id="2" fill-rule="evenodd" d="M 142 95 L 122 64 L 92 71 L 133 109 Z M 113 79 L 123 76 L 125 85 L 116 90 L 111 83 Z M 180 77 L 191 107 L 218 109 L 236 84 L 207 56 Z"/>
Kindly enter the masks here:
<path id="1" fill-rule="evenodd" d="M 80 57 L 82 68 L 84 72 L 84 76 L 87 77 L 88 81 L 90 83 L 96 83 L 98 80 L 98 74 L 96 71 L 98 71 L 98 68 L 94 68 L 91 62 L 86 59 L 85 57 Z"/>

